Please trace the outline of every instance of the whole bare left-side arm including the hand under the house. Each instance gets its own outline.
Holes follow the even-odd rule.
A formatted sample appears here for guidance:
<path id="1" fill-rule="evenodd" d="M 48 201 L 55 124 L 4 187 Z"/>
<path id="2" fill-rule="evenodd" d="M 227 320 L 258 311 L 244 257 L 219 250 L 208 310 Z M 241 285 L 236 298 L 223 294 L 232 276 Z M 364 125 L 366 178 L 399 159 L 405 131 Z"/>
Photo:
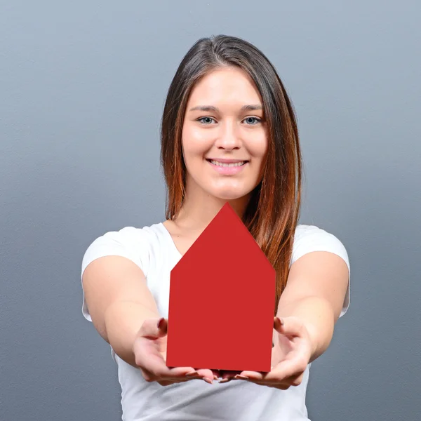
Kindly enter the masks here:
<path id="1" fill-rule="evenodd" d="M 96 330 L 121 359 L 140 368 L 145 380 L 167 386 L 194 379 L 211 383 L 215 378 L 206 368 L 166 367 L 166 328 L 157 326 L 156 302 L 142 270 L 130 259 L 103 256 L 93 260 L 83 272 L 82 283 Z"/>

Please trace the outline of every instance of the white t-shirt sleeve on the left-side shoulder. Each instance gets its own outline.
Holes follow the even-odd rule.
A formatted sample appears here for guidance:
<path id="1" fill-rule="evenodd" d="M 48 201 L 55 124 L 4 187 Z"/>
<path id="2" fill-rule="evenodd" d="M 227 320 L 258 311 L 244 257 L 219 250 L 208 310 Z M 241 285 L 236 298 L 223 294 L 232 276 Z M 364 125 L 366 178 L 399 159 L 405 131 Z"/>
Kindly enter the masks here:
<path id="1" fill-rule="evenodd" d="M 95 239 L 83 255 L 81 281 L 83 272 L 93 260 L 112 255 L 128 258 L 138 265 L 142 269 L 143 274 L 147 276 L 149 269 L 149 250 L 146 232 L 141 228 L 124 227 L 119 231 L 106 232 Z M 86 320 L 92 321 L 91 314 L 89 314 L 89 309 L 86 305 L 83 283 L 82 293 L 82 314 Z"/>

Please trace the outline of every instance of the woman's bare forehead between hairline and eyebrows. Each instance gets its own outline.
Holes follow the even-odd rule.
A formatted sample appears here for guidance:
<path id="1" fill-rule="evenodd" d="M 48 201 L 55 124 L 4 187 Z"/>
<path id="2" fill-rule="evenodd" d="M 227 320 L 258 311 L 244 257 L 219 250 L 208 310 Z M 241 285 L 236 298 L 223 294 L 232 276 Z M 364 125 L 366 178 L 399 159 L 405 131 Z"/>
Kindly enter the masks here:
<path id="1" fill-rule="evenodd" d="M 215 105 L 217 102 L 262 103 L 250 76 L 236 67 L 216 69 L 203 76 L 194 86 L 188 104 Z"/>

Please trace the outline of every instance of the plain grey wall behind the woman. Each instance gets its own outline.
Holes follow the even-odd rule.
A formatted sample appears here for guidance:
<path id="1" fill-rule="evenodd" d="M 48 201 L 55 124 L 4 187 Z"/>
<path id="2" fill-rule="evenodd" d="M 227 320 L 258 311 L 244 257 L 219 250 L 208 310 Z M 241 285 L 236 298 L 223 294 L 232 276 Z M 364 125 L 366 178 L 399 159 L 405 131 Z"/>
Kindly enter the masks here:
<path id="1" fill-rule="evenodd" d="M 421 6 L 403 1 L 0 3 L 0 419 L 120 419 L 81 259 L 163 220 L 159 119 L 211 34 L 267 54 L 297 109 L 302 223 L 345 244 L 349 312 L 312 366 L 310 418 L 420 420 Z"/>

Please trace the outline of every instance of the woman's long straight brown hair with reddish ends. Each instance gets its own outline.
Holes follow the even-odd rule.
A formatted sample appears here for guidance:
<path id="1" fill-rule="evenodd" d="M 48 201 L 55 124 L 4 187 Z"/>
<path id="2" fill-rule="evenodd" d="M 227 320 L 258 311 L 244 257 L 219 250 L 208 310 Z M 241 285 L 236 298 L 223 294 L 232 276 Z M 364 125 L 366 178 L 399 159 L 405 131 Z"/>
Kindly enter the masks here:
<path id="1" fill-rule="evenodd" d="M 161 165 L 167 185 L 166 218 L 175 219 L 185 198 L 182 126 L 194 85 L 208 72 L 240 67 L 254 81 L 269 133 L 262 181 L 243 222 L 276 270 L 276 307 L 288 279 L 301 202 L 302 156 L 293 104 L 276 70 L 255 46 L 235 36 L 201 38 L 190 48 L 168 88 L 161 119 Z"/>

